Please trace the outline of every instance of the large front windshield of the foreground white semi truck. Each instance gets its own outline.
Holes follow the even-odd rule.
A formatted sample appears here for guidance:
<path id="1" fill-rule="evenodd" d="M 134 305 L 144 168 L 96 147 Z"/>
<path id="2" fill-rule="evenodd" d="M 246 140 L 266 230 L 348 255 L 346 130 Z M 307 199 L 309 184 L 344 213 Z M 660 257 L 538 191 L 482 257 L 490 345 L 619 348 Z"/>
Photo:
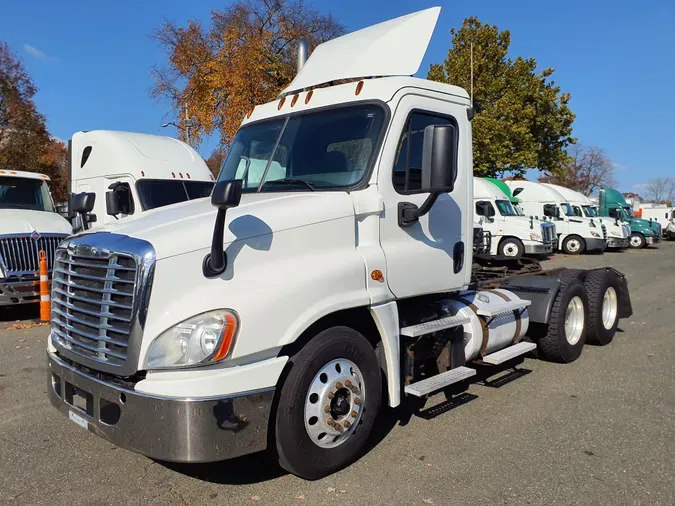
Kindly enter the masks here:
<path id="1" fill-rule="evenodd" d="M 374 159 L 383 124 L 381 106 L 360 104 L 245 126 L 220 180 L 241 179 L 244 192 L 357 185 Z"/>

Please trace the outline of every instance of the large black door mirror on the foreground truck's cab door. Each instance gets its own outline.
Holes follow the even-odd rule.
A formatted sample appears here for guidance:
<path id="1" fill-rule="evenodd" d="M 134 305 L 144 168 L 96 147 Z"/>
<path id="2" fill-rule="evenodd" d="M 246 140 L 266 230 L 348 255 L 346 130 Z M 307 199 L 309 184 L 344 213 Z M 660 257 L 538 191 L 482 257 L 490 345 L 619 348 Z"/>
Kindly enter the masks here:
<path id="1" fill-rule="evenodd" d="M 452 124 L 429 125 L 424 129 L 422 146 L 421 190 L 429 196 L 417 207 L 410 202 L 399 202 L 398 224 L 409 227 L 427 214 L 441 193 L 455 189 L 457 180 L 457 127 Z"/>

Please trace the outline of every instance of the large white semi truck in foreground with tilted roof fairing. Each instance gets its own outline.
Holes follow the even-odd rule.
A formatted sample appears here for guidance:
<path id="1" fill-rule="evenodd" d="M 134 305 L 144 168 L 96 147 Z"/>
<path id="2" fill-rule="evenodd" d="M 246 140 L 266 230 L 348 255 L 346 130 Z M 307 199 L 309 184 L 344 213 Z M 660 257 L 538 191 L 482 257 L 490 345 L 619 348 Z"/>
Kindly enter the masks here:
<path id="1" fill-rule="evenodd" d="M 267 448 L 314 479 L 358 457 L 383 403 L 612 339 L 631 314 L 615 270 L 472 281 L 471 102 L 409 77 L 439 12 L 319 45 L 244 120 L 211 202 L 58 249 L 55 407 L 155 459 Z M 249 160 L 257 184 L 234 179 Z"/>

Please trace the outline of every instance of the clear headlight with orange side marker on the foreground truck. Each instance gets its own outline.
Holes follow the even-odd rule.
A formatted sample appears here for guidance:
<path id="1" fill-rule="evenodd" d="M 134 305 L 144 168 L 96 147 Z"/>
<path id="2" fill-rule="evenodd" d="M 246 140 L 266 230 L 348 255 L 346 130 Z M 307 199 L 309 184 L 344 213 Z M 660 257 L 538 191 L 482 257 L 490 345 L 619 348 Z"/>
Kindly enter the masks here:
<path id="1" fill-rule="evenodd" d="M 202 313 L 165 330 L 150 344 L 146 369 L 211 364 L 226 358 L 239 328 L 237 315 L 227 309 Z"/>

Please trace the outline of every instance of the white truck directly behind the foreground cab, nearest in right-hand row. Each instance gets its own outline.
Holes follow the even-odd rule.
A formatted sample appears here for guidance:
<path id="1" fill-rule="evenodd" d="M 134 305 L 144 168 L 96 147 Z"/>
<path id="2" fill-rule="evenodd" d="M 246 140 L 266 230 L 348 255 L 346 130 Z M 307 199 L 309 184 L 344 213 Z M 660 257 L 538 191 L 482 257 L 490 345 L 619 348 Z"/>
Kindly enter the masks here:
<path id="1" fill-rule="evenodd" d="M 548 255 L 553 251 L 555 227 L 520 216 L 508 196 L 494 184 L 473 178 L 476 217 L 492 239 L 490 253 L 509 257 Z M 555 238 L 557 243 L 557 237 Z"/>

